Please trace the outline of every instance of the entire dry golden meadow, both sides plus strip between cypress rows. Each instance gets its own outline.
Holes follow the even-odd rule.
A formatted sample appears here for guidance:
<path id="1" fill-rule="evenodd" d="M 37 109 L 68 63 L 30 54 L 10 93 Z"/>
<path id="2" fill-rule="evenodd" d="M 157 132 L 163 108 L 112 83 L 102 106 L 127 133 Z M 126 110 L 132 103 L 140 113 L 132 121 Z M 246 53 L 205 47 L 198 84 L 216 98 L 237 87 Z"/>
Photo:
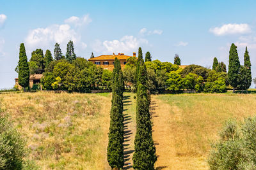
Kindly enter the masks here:
<path id="1" fill-rule="evenodd" d="M 125 169 L 132 169 L 136 94 L 124 93 Z M 41 169 L 109 169 L 111 94 L 0 94 L 4 113 L 27 141 Z M 152 95 L 156 169 L 208 169 L 211 143 L 228 118 L 255 115 L 254 94 Z"/>

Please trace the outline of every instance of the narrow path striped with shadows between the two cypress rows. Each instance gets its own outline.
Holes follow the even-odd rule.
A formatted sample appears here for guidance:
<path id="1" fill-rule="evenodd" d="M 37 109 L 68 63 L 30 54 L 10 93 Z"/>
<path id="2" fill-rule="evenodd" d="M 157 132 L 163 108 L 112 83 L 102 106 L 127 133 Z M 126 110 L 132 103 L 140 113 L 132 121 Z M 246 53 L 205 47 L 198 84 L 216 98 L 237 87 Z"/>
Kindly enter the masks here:
<path id="1" fill-rule="evenodd" d="M 134 153 L 134 137 L 136 133 L 136 103 L 135 94 L 124 94 L 124 167 L 133 169 L 132 155 Z"/>

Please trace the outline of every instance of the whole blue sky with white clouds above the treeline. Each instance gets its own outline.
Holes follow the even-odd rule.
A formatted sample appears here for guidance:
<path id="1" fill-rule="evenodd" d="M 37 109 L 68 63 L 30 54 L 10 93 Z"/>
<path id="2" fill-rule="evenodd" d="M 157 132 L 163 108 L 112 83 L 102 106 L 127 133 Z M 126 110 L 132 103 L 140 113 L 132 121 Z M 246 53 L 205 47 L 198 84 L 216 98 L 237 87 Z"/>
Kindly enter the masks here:
<path id="1" fill-rule="evenodd" d="M 77 56 L 138 54 L 182 65 L 211 67 L 213 58 L 228 67 L 235 43 L 243 64 L 245 46 L 256 77 L 256 1 L 3 1 L 0 0 L 0 89 L 15 85 L 19 46 L 28 60 L 42 48 L 53 54 L 55 43 L 66 53 L 74 41 Z M 252 85 L 254 87 L 255 85 Z"/>

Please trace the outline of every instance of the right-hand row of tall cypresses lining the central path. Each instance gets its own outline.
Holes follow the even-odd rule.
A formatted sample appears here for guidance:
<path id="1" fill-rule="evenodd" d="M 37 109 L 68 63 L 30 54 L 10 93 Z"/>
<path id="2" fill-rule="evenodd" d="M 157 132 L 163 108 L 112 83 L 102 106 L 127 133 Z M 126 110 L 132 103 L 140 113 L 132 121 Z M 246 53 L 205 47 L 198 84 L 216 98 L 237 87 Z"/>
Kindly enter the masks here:
<path id="1" fill-rule="evenodd" d="M 152 138 L 152 122 L 150 120 L 150 99 L 147 93 L 147 68 L 140 60 L 137 81 L 136 135 L 134 140 L 134 169 L 154 169 L 157 160 L 156 148 Z"/>

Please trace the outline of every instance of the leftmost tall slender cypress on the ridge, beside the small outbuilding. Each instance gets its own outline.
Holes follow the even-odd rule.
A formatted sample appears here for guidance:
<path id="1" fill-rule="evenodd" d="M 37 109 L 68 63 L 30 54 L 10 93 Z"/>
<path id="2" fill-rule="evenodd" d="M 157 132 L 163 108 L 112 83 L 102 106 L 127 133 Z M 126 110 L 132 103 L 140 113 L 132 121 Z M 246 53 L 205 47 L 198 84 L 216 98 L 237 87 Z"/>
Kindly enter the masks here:
<path id="1" fill-rule="evenodd" d="M 20 44 L 19 53 L 19 85 L 25 88 L 29 86 L 29 66 L 24 43 Z"/>

